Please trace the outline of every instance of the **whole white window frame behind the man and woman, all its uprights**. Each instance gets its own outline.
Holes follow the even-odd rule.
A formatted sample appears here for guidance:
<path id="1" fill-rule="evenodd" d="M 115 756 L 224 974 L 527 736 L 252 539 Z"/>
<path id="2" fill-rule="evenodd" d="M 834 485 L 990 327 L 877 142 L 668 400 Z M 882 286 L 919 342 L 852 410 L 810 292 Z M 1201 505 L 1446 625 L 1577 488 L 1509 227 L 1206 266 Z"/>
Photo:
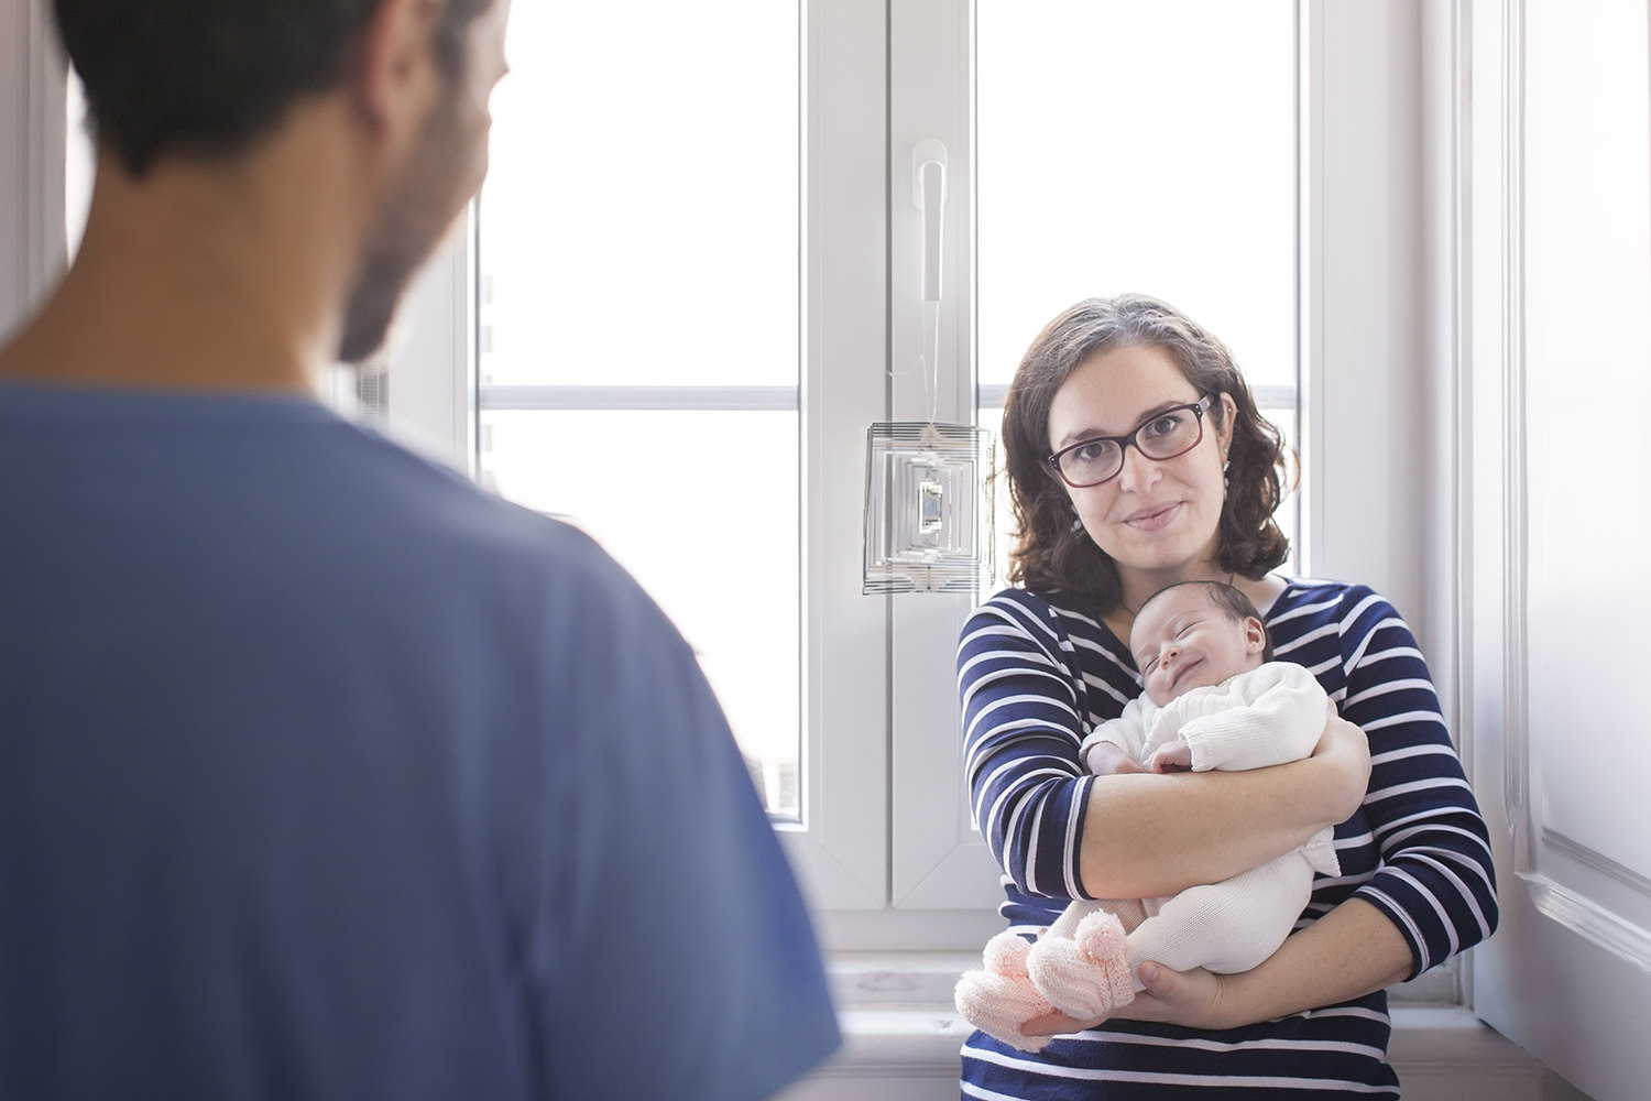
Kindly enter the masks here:
<path id="1" fill-rule="evenodd" d="M 1299 12 L 1306 571 L 1388 594 L 1455 718 L 1455 543 L 1433 520 L 1453 515 L 1455 485 L 1426 475 L 1425 451 L 1455 399 L 1428 368 L 1450 352 L 1441 266 L 1455 241 L 1436 224 L 1450 188 L 1441 208 L 1428 183 L 1438 172 L 1425 172 L 1438 116 L 1423 109 L 1450 64 L 1425 56 L 1423 28 L 1436 36 L 1438 17 L 1420 0 L 1301 0 Z M 821 211 L 806 231 L 801 333 L 802 477 L 814 487 L 802 566 L 816 579 L 804 598 L 806 825 L 781 832 L 839 951 L 972 951 L 999 924 L 996 868 L 961 781 L 948 781 L 961 753 L 953 647 L 969 601 L 859 594 L 865 426 L 926 416 L 918 380 L 867 366 L 910 361 L 920 338 L 915 295 L 895 289 L 915 279 L 910 149 L 923 139 L 946 144 L 951 170 L 939 416 L 967 421 L 974 409 L 971 15 L 969 0 L 832 0 L 806 17 L 806 79 L 839 76 L 807 97 L 802 127 L 804 200 Z M 0 203 L 0 256 L 15 258 L 0 266 L 3 328 L 61 267 L 64 150 L 46 0 L 0 10 L 0 96 L 26 107 L 0 112 L 0 182 L 17 196 Z M 890 74 L 892 54 L 925 61 Z M 454 234 L 411 291 L 390 383 L 391 431 L 464 470 L 475 452 L 469 239 Z M 1380 530 L 1367 517 L 1384 517 Z"/>

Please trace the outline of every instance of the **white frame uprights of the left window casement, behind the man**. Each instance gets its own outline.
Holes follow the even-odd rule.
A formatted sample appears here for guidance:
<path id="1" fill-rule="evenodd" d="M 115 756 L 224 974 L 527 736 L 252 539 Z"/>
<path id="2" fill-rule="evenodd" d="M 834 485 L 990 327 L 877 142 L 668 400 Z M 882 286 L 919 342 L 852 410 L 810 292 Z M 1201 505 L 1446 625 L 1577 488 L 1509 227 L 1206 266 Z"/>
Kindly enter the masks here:
<path id="1" fill-rule="evenodd" d="M 859 921 L 885 911 L 890 848 L 888 817 L 868 806 L 887 806 L 892 601 L 860 596 L 865 428 L 888 419 L 885 380 L 865 370 L 888 358 L 887 157 L 865 139 L 885 127 L 883 81 L 865 74 L 887 68 L 887 13 L 883 0 L 834 0 L 807 5 L 804 18 L 804 81 L 822 71 L 842 76 L 832 96 L 807 99 L 801 127 L 802 200 L 821 211 L 804 228 L 799 333 L 807 365 L 801 479 L 812 487 L 804 494 L 799 568 L 814 584 L 802 596 L 802 824 L 776 829 L 816 911 L 845 926 L 827 939 L 865 943 Z M 477 385 L 472 228 L 467 220 L 409 295 L 404 332 L 390 353 L 388 411 L 401 439 L 474 475 L 477 409 L 535 396 Z"/>

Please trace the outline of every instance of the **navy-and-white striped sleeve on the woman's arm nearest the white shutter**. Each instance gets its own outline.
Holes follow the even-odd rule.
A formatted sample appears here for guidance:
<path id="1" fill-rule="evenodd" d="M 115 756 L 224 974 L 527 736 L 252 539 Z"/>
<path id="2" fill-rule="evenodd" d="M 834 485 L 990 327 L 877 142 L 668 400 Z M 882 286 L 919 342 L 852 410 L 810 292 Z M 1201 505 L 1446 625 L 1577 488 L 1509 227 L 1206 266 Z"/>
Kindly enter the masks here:
<path id="1" fill-rule="evenodd" d="M 1351 588 L 1341 606 L 1342 718 L 1370 740 L 1364 812 L 1380 847 L 1355 891 L 1398 926 L 1412 977 L 1496 929 L 1496 872 L 1426 662 L 1398 612 Z"/>

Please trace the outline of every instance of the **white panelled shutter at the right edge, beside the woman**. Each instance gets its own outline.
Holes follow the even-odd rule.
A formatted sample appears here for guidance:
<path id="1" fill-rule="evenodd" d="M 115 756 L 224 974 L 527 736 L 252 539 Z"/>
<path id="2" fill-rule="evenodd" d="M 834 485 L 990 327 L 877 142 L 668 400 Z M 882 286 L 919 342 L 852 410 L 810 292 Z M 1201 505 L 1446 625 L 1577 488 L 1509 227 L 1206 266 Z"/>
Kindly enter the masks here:
<path id="1" fill-rule="evenodd" d="M 1601 395 L 1633 393 L 1651 347 L 1638 300 L 1651 28 L 1643 0 L 1458 8 L 1473 59 L 1458 104 L 1471 132 L 1463 710 L 1502 877 L 1473 1007 L 1590 1096 L 1626 1101 L 1651 1070 L 1651 848 L 1631 779 L 1646 649 L 1628 639 L 1601 669 L 1572 642 L 1651 601 L 1623 550 L 1643 538 L 1644 497 L 1625 487 L 1646 447 L 1638 432 L 1578 446 L 1570 426 Z"/>

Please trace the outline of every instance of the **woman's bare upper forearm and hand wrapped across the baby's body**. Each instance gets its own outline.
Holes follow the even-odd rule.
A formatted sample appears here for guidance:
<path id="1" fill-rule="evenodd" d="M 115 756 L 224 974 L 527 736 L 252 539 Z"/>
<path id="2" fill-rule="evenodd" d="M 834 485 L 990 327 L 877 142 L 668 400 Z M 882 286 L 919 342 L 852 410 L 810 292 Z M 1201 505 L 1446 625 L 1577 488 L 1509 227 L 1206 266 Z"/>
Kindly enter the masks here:
<path id="1" fill-rule="evenodd" d="M 1306 761 L 1096 777 L 1083 822 L 1083 886 L 1095 898 L 1157 898 L 1230 878 L 1351 817 L 1369 774 L 1364 733 L 1332 720 Z"/>

